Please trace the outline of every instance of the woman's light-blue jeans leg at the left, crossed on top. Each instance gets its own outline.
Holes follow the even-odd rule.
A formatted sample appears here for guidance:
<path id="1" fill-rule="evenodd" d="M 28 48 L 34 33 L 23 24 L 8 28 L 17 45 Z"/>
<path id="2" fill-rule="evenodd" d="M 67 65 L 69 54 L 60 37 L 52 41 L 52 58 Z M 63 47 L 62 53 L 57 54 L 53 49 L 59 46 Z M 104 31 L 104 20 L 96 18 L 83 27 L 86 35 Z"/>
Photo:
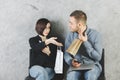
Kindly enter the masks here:
<path id="1" fill-rule="evenodd" d="M 44 67 L 37 65 L 30 68 L 30 76 L 36 80 L 50 80 Z"/>

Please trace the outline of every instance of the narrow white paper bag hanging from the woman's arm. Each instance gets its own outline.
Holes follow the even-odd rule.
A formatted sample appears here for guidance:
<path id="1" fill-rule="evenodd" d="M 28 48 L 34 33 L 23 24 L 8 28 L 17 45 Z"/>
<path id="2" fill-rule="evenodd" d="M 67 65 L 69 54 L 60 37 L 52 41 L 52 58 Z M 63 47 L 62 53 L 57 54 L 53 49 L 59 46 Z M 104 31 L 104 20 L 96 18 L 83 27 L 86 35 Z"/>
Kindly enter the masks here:
<path id="1" fill-rule="evenodd" d="M 55 73 L 62 74 L 63 73 L 63 52 L 61 47 L 57 47 L 56 61 L 54 67 Z"/>

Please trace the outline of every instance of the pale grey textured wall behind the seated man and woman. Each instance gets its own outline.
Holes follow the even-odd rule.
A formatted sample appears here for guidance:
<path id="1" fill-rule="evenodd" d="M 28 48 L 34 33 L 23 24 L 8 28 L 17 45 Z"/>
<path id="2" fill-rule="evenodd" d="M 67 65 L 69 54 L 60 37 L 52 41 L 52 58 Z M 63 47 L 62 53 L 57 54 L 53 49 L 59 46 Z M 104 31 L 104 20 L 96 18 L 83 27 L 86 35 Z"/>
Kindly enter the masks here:
<path id="1" fill-rule="evenodd" d="M 0 0 L 0 80 L 24 80 L 28 75 L 28 39 L 36 35 L 37 19 L 50 19 L 65 37 L 69 14 L 76 9 L 85 11 L 88 26 L 103 35 L 107 80 L 119 80 L 119 4 L 120 0 Z"/>

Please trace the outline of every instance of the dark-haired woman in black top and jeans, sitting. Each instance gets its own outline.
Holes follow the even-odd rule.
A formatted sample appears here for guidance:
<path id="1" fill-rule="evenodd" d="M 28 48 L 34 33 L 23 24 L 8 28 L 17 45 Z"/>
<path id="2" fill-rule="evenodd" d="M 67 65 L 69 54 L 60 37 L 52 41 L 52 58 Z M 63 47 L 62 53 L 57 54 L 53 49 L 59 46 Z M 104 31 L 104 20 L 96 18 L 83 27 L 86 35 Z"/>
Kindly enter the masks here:
<path id="1" fill-rule="evenodd" d="M 38 35 L 29 39 L 34 59 L 30 65 L 30 76 L 36 80 L 50 80 L 54 76 L 57 46 L 62 46 L 62 43 L 57 42 L 56 37 L 48 38 L 51 30 L 49 20 L 39 19 L 35 29 Z"/>

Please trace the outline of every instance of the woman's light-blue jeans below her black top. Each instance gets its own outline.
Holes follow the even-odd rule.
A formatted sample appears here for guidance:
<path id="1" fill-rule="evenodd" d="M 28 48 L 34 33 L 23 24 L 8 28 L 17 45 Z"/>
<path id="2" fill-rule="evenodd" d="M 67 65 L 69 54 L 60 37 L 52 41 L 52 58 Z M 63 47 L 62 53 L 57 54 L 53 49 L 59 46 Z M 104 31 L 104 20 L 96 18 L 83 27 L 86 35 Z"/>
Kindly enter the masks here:
<path id="1" fill-rule="evenodd" d="M 44 68 L 42 66 L 32 66 L 30 68 L 30 76 L 36 80 L 51 80 L 55 72 L 52 68 Z"/>

